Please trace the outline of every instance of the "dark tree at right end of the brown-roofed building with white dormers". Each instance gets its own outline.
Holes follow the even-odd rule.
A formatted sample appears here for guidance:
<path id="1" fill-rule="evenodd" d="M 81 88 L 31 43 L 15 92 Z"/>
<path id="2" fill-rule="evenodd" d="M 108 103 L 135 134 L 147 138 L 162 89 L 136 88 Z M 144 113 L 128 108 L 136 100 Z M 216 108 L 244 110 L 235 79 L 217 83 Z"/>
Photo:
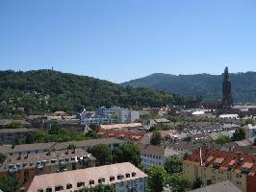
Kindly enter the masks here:
<path id="1" fill-rule="evenodd" d="M 96 165 L 107 165 L 112 163 L 112 151 L 108 145 L 97 144 L 94 145 L 88 152 L 96 158 Z"/>

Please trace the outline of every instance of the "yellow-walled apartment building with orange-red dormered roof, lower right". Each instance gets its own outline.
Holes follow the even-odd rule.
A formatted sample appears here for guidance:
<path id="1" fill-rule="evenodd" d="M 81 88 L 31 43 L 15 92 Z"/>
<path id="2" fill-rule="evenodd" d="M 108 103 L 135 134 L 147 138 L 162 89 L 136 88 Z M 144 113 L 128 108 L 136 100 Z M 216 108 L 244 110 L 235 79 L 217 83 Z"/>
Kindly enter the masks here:
<path id="1" fill-rule="evenodd" d="M 184 160 L 184 173 L 192 180 L 200 178 L 203 185 L 230 180 L 243 192 L 256 188 L 256 156 L 244 153 L 202 149 Z"/>

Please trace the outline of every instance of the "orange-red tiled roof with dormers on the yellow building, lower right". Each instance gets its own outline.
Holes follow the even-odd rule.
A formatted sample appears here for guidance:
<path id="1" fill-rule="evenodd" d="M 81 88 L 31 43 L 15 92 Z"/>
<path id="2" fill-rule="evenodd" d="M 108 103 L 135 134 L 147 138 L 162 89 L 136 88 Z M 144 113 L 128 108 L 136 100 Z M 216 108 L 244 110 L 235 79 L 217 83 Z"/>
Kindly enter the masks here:
<path id="1" fill-rule="evenodd" d="M 231 171 L 235 173 L 243 173 L 243 168 L 250 169 L 248 175 L 256 176 L 256 156 L 235 153 L 235 152 L 226 152 L 216 149 L 202 149 L 202 166 L 205 167 L 215 167 L 215 163 L 220 164 L 219 169 L 227 170 L 231 168 Z M 199 150 L 188 156 L 184 161 L 188 164 L 200 165 L 200 152 Z"/>

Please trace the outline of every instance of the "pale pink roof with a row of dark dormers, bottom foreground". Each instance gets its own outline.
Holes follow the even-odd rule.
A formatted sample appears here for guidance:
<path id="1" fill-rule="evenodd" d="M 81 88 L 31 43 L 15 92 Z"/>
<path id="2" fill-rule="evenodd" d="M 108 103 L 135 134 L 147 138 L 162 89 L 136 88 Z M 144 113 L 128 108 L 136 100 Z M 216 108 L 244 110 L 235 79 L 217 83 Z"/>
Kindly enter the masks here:
<path id="1" fill-rule="evenodd" d="M 129 177 L 127 177 L 126 174 L 130 174 Z M 122 177 L 117 178 L 118 176 Z M 111 177 L 114 180 L 110 180 Z M 92 180 L 94 184 L 98 184 L 99 179 L 105 179 L 105 184 L 113 184 L 121 181 L 137 180 L 146 177 L 147 175 L 133 164 L 130 162 L 124 162 L 88 169 L 67 171 L 63 173 L 36 176 L 29 186 L 28 192 L 38 191 L 38 188 L 45 190 L 47 187 L 51 187 L 54 189 L 55 186 L 58 185 L 62 185 L 65 188 L 68 183 L 72 185 L 72 190 L 76 190 L 82 188 L 77 187 L 77 183 L 81 182 L 81 180 L 84 182 L 85 186 L 89 186 L 90 181 Z"/>

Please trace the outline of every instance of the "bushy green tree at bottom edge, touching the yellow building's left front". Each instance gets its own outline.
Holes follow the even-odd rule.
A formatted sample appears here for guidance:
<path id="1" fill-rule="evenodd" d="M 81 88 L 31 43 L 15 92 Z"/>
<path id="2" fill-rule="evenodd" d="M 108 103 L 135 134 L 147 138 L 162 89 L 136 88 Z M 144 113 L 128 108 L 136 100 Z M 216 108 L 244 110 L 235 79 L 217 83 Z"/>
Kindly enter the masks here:
<path id="1" fill-rule="evenodd" d="M 192 180 L 182 173 L 175 173 L 168 177 L 167 185 L 172 192 L 187 192 L 192 189 Z"/>

